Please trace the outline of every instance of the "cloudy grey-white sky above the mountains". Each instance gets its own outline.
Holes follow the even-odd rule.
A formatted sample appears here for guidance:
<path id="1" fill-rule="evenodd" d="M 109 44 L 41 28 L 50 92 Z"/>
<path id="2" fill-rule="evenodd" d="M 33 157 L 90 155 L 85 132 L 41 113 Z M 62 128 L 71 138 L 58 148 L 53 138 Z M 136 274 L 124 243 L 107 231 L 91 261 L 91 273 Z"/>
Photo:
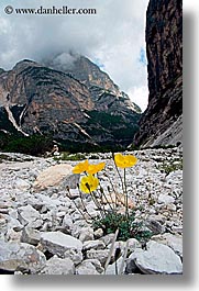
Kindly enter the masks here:
<path id="1" fill-rule="evenodd" d="M 121 90 L 147 105 L 145 13 L 148 0 L 1 0 L 0 67 L 74 51 L 100 65 Z M 5 14 L 4 8 L 93 8 L 95 15 Z"/>

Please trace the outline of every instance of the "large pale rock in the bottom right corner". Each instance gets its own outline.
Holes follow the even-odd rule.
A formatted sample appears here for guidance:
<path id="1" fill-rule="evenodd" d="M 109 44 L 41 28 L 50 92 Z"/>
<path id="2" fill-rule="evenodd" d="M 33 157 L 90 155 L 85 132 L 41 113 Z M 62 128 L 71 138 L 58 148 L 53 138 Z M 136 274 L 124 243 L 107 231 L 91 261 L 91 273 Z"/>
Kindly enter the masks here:
<path id="1" fill-rule="evenodd" d="M 179 256 L 170 247 L 153 240 L 147 243 L 146 251 L 137 253 L 134 262 L 144 273 L 183 273 Z"/>

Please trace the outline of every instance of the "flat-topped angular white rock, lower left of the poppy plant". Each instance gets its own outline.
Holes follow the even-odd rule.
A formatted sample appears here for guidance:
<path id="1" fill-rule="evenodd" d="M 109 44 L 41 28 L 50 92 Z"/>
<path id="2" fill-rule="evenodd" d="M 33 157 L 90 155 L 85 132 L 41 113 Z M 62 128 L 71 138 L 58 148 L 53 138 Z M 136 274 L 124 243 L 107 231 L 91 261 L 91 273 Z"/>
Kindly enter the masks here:
<path id="1" fill-rule="evenodd" d="M 82 243 L 79 239 L 62 232 L 43 233 L 41 235 L 41 244 L 49 253 L 57 256 L 64 256 L 65 251 L 68 249 L 82 249 Z"/>

